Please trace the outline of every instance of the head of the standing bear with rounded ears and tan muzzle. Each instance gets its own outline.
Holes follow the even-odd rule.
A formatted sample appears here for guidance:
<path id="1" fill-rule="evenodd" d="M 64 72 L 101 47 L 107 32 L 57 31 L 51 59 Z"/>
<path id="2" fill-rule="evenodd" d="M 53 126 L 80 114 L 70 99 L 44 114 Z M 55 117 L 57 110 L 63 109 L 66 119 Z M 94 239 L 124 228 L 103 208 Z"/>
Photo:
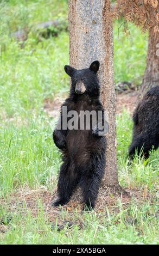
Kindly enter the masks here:
<path id="1" fill-rule="evenodd" d="M 99 62 L 92 62 L 88 69 L 74 69 L 72 66 L 65 66 L 65 72 L 71 76 L 71 94 L 85 94 L 90 96 L 99 96 L 99 81 L 97 71 Z"/>

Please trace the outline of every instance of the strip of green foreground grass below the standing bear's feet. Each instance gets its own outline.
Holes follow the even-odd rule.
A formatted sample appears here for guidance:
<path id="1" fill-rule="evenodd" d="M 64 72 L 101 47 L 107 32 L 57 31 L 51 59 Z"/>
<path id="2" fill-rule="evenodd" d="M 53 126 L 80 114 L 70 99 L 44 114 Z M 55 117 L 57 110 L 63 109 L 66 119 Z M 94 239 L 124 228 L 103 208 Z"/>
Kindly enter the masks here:
<path id="1" fill-rule="evenodd" d="M 118 206 L 120 207 L 120 206 Z M 144 204 L 140 209 L 131 204 L 129 212 L 120 208 L 119 214 L 104 217 L 93 212 L 85 214 L 85 226 L 80 229 L 78 225 L 65 228 L 58 232 L 51 230 L 50 223 L 43 212 L 36 218 L 22 218 L 21 214 L 14 216 L 10 224 L 10 231 L 6 233 L 2 243 L 31 243 L 31 244 L 143 244 L 157 243 L 157 208 Z M 66 213 L 65 213 L 66 214 Z M 64 214 L 64 215 L 65 215 Z"/>

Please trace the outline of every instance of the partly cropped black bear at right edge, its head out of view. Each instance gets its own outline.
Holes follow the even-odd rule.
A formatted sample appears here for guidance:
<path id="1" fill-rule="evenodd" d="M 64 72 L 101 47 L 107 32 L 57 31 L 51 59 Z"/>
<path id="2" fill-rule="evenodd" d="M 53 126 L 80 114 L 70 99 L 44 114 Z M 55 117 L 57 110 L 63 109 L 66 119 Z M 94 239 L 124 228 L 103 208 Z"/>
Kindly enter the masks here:
<path id="1" fill-rule="evenodd" d="M 135 151 L 143 150 L 145 158 L 149 151 L 159 146 L 159 86 L 151 88 L 139 102 L 133 113 L 133 137 L 129 148 L 130 159 Z"/>

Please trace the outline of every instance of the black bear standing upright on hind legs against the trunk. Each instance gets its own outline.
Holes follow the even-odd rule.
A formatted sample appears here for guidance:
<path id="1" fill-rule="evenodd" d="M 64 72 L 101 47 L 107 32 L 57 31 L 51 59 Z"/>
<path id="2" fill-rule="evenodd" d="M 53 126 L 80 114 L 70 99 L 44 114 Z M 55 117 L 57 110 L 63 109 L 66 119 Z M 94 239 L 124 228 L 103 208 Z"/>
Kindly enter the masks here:
<path id="1" fill-rule="evenodd" d="M 93 126 L 91 121 L 89 129 L 86 129 L 86 126 L 84 129 L 69 129 L 68 127 L 71 120 L 70 111 L 77 112 L 77 123 L 82 112 L 94 111 L 98 114 L 100 111 L 102 113 L 101 123 L 106 123 L 104 108 L 99 100 L 98 69 L 98 61 L 93 62 L 90 68 L 82 70 L 65 66 L 65 72 L 71 76 L 71 88 L 68 98 L 61 106 L 60 119 L 53 133 L 54 143 L 61 150 L 63 160 L 58 180 L 58 199 L 53 206 L 67 204 L 77 186 L 81 187 L 85 210 L 94 208 L 98 196 L 105 169 L 106 138 L 104 135 L 107 131 L 103 126 L 102 128 L 100 125 Z M 63 107 L 65 109 L 67 107 L 67 118 Z M 62 126 L 64 119 L 67 119 L 65 129 Z M 99 132 L 102 135 L 99 136 Z"/>

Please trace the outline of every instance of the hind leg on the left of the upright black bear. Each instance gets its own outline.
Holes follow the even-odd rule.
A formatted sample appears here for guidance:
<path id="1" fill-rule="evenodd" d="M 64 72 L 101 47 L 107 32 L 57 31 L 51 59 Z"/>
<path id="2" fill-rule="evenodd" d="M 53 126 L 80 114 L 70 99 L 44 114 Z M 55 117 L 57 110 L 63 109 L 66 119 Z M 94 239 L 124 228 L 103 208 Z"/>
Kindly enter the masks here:
<path id="1" fill-rule="evenodd" d="M 58 180 L 58 199 L 53 206 L 65 205 L 69 202 L 74 188 L 77 186 L 75 175 L 70 175 L 70 163 L 64 162 L 60 168 Z"/>

